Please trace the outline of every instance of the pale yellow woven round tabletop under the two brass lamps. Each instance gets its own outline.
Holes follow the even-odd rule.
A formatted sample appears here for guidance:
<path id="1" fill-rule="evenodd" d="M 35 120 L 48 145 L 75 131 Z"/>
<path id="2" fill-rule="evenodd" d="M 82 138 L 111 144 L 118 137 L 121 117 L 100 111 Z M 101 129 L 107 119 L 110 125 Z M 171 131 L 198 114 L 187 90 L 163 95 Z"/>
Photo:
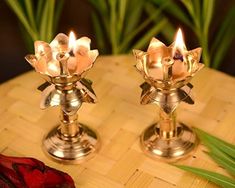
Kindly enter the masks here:
<path id="1" fill-rule="evenodd" d="M 0 86 L 0 150 L 13 156 L 31 156 L 69 173 L 77 187 L 85 188 L 188 188 L 216 187 L 167 163 L 146 157 L 139 147 L 139 135 L 157 117 L 157 107 L 139 104 L 143 82 L 132 56 L 99 57 L 87 74 L 93 80 L 97 104 L 84 104 L 80 121 L 96 129 L 102 148 L 81 165 L 63 165 L 46 158 L 41 150 L 43 136 L 59 121 L 58 108 L 39 109 L 43 83 L 28 72 Z M 192 83 L 196 104 L 181 104 L 178 118 L 231 143 L 235 143 L 235 79 L 204 68 Z M 203 152 L 203 146 L 180 161 L 226 174 Z"/>

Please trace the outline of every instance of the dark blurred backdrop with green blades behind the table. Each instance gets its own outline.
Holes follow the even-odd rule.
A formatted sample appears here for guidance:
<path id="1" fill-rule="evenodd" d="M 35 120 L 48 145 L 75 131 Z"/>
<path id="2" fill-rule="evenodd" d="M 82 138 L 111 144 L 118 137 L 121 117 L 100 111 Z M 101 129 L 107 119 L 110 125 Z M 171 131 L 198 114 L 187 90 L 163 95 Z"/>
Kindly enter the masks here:
<path id="1" fill-rule="evenodd" d="M 188 49 L 203 48 L 206 66 L 235 75 L 234 18 L 234 0 L 4 0 L 0 82 L 31 69 L 24 56 L 34 40 L 71 29 L 100 54 L 128 54 L 145 50 L 152 37 L 169 45 L 181 27 Z"/>

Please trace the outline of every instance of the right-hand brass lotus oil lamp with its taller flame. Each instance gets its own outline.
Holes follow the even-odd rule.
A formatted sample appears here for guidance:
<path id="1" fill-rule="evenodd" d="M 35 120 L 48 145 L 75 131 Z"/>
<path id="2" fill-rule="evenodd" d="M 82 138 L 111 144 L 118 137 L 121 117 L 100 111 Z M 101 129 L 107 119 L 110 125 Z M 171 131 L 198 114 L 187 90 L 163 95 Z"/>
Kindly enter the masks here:
<path id="1" fill-rule="evenodd" d="M 134 50 L 136 68 L 143 75 L 141 104 L 160 108 L 157 123 L 141 134 L 143 151 L 152 158 L 173 162 L 187 156 L 198 144 L 198 138 L 185 124 L 176 120 L 181 101 L 194 104 L 189 83 L 203 64 L 199 63 L 201 48 L 187 51 L 179 29 L 176 41 L 169 47 L 153 38 L 147 52 Z"/>

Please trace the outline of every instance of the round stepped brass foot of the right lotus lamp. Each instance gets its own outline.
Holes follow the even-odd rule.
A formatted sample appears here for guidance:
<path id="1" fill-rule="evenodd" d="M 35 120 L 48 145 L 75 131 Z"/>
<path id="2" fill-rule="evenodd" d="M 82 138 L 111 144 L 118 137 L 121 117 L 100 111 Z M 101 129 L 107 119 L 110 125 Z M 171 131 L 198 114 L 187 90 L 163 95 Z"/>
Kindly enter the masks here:
<path id="1" fill-rule="evenodd" d="M 159 133 L 158 124 L 148 127 L 140 137 L 141 148 L 148 156 L 167 162 L 187 157 L 199 142 L 193 130 L 182 123 L 178 124 L 177 136 L 174 138 L 160 138 Z"/>

